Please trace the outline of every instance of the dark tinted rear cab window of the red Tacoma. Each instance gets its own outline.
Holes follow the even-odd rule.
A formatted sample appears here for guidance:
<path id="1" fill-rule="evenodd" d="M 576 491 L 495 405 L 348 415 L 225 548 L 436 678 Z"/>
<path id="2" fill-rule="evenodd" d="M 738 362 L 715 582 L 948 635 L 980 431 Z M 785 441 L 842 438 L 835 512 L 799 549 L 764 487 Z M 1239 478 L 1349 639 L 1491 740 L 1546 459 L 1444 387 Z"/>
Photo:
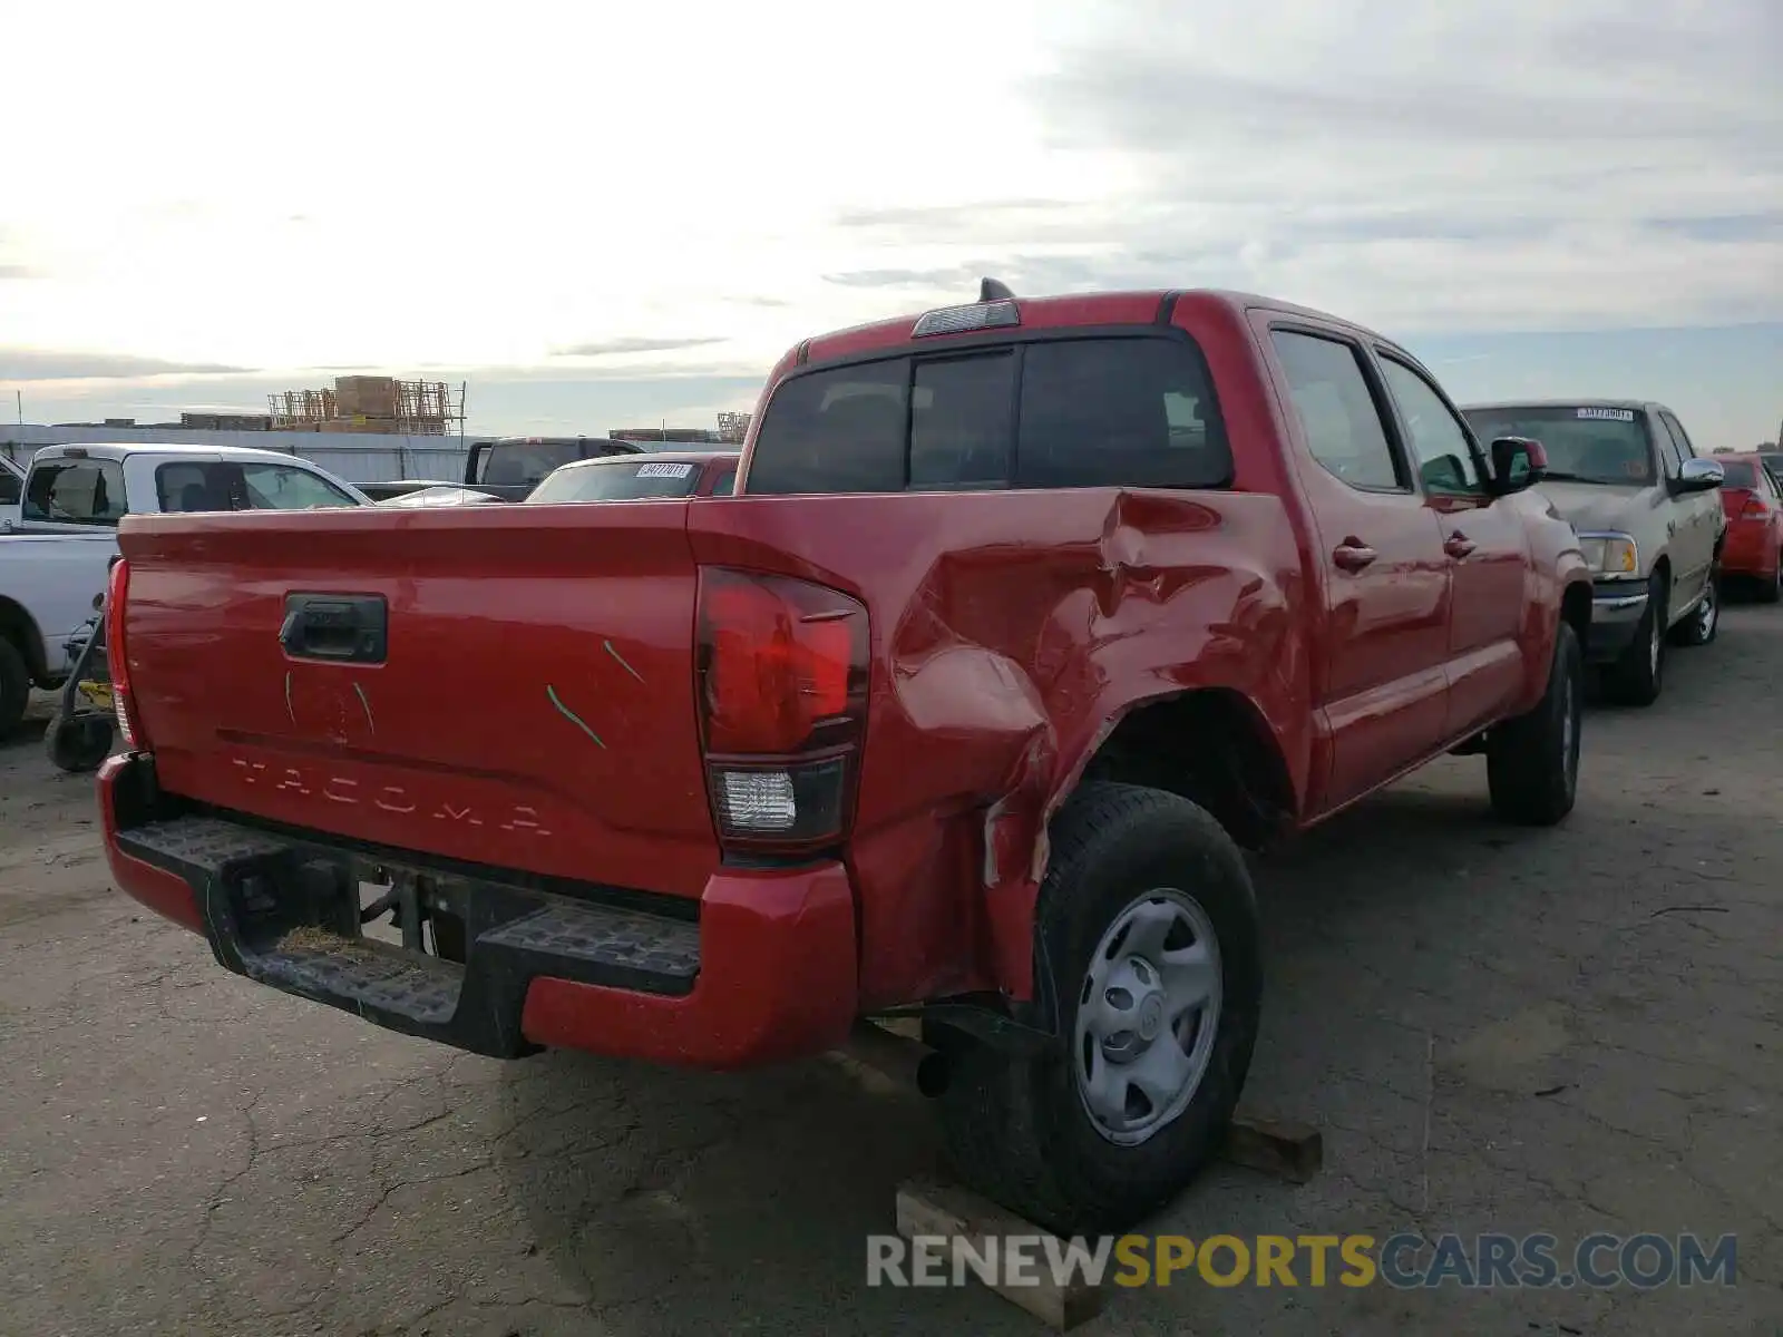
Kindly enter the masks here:
<path id="1" fill-rule="evenodd" d="M 827 367 L 781 383 L 751 494 L 1170 487 L 1232 481 L 1200 351 L 1045 339 Z"/>

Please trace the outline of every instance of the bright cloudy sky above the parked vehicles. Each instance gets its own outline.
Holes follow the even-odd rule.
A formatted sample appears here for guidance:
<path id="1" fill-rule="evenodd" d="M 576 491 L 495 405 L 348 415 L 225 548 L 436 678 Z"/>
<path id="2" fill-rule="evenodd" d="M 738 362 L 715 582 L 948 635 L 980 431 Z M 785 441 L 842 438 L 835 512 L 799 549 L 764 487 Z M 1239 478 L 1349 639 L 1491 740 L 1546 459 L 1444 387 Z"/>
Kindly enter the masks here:
<path id="1" fill-rule="evenodd" d="M 1778 0 L 96 0 L 5 46 L 0 419 L 364 371 L 472 433 L 710 426 L 986 273 L 1266 292 L 1699 449 L 1783 419 Z"/>

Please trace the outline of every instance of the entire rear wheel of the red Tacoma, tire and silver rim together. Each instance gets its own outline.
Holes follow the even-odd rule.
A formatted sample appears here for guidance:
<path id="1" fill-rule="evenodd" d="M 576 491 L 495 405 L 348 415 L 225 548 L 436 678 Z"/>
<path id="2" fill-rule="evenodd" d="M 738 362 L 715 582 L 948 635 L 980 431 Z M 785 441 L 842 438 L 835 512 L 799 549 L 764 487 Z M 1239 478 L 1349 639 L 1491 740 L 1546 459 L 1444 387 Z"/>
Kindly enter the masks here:
<path id="1" fill-rule="evenodd" d="M 1232 838 L 1187 799 L 1086 784 L 1052 827 L 1036 993 L 1048 1052 L 952 1055 L 954 1169 L 1047 1230 L 1122 1230 L 1218 1155 L 1250 1070 L 1262 963 Z"/>

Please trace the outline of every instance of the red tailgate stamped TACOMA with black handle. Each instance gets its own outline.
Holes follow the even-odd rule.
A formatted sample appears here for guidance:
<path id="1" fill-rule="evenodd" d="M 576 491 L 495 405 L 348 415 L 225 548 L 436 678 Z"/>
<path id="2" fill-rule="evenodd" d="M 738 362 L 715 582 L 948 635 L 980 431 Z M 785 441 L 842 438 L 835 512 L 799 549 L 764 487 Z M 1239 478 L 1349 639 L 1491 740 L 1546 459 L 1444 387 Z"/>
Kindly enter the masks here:
<path id="1" fill-rule="evenodd" d="M 376 845 L 697 897 L 719 850 L 686 503 L 597 512 L 125 521 L 130 686 L 162 788 Z M 383 644 L 342 638 L 342 617 L 371 629 L 380 601 Z"/>

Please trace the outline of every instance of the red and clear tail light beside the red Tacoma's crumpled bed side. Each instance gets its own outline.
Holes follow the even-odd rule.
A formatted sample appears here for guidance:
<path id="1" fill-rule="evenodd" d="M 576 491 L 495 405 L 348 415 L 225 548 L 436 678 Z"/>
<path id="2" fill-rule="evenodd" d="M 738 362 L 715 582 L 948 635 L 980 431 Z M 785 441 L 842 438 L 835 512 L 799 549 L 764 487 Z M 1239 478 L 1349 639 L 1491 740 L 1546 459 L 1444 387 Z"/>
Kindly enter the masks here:
<path id="1" fill-rule="evenodd" d="M 867 654 L 867 608 L 840 590 L 701 570 L 701 740 L 720 841 L 799 850 L 843 834 Z"/>

